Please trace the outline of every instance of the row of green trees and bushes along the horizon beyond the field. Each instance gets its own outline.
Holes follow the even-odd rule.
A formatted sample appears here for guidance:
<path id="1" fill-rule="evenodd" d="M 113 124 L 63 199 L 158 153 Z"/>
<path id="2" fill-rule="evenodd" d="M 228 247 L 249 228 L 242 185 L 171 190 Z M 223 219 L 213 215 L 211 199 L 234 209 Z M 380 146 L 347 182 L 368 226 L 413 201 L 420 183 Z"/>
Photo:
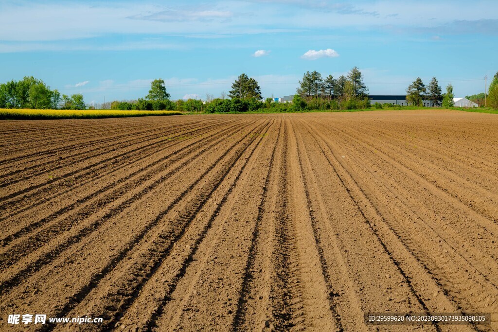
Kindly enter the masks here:
<path id="1" fill-rule="evenodd" d="M 274 103 L 272 98 L 262 101 L 261 88 L 258 82 L 245 73 L 241 74 L 232 84 L 228 97 L 222 93 L 214 99 L 207 95 L 206 101 L 189 99 L 187 101 L 170 101 L 162 79 L 153 80 L 150 90 L 144 98 L 134 101 L 114 101 L 110 103 L 113 110 L 139 111 L 188 111 L 188 112 L 245 112 L 245 111 L 314 111 L 314 110 L 351 110 L 370 108 L 369 89 L 364 83 L 364 77 L 358 67 L 353 67 L 349 73 L 337 79 L 332 75 L 322 77 L 317 71 L 306 72 L 293 96 L 292 103 Z M 482 95 L 482 96 L 481 96 Z M 468 96 L 470 100 L 482 99 L 484 94 Z M 422 106 L 424 100 L 432 102 L 433 106 L 452 107 L 453 86 L 448 84 L 446 93 L 435 77 L 429 85 L 425 85 L 417 77 L 406 89 L 406 101 L 414 106 Z M 488 106 L 498 109 L 498 73 L 495 75 L 486 96 Z M 375 103 L 375 108 L 382 105 Z M 51 90 L 43 81 L 32 76 L 21 81 L 10 81 L 0 84 L 0 108 L 4 109 L 86 109 L 83 96 L 61 95 L 57 90 Z"/>

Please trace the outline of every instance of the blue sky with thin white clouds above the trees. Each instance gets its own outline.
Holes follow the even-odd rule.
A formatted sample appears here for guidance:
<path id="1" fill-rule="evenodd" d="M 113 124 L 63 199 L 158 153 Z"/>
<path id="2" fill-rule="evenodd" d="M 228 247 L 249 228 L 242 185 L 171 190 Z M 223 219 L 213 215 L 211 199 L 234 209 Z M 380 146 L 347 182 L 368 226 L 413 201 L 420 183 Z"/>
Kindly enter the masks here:
<path id="1" fill-rule="evenodd" d="M 498 1 L 0 1 L 0 82 L 25 75 L 85 101 L 130 100 L 162 78 L 172 99 L 228 93 L 241 73 L 263 97 L 306 71 L 357 66 L 371 94 L 435 76 L 455 95 L 498 71 Z"/>

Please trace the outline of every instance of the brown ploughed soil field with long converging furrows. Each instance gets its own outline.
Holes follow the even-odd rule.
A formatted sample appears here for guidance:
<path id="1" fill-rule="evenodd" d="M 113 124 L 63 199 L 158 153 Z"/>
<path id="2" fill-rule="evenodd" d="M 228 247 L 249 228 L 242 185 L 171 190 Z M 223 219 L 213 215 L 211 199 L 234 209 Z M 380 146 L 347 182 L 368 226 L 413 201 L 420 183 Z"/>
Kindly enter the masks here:
<path id="1" fill-rule="evenodd" d="M 498 116 L 0 122 L 0 330 L 491 331 Z M 22 324 L 21 324 L 22 325 Z"/>

